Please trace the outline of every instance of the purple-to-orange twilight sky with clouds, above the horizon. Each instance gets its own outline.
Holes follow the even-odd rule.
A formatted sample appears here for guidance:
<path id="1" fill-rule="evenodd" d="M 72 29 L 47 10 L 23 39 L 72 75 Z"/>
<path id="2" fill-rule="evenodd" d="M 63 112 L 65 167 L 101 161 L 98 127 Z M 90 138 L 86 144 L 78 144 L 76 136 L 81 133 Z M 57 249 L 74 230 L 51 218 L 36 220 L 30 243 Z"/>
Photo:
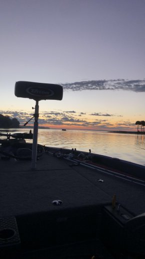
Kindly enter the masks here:
<path id="1" fill-rule="evenodd" d="M 39 102 L 41 126 L 135 131 L 144 71 L 145 0 L 0 0 L 0 114 L 20 125 L 35 101 L 14 85 L 30 81 L 63 86 Z"/>

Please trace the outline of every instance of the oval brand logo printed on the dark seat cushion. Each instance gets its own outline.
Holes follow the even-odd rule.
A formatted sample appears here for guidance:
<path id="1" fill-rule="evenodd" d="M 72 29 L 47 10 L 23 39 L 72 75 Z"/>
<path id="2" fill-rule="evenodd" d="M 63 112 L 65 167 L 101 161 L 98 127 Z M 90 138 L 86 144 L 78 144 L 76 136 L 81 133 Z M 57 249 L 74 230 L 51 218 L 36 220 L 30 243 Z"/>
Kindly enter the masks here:
<path id="1" fill-rule="evenodd" d="M 41 87 L 29 87 L 26 91 L 34 96 L 52 96 L 54 92 L 51 89 L 41 88 Z"/>

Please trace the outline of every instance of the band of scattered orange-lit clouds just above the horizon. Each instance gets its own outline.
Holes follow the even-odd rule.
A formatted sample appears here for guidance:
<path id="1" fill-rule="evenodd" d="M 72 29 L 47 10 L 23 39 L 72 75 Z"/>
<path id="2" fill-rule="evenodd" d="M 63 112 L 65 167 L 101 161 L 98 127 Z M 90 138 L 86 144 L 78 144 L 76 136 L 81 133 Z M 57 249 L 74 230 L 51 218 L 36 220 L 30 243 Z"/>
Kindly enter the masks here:
<path id="1" fill-rule="evenodd" d="M 26 121 L 28 121 L 32 117 L 32 113 L 24 112 L 22 110 L 18 111 L 3 111 L 0 110 L 0 113 L 3 115 L 8 115 L 10 117 L 16 117 L 20 124 L 23 125 Z M 80 115 L 83 117 L 85 114 L 85 118 L 80 119 Z M 90 121 L 90 115 L 98 116 L 93 121 Z M 104 119 L 100 119 L 100 116 L 105 116 Z M 39 125 L 63 125 L 64 127 L 67 126 L 83 126 L 84 128 L 92 127 L 94 130 L 99 129 L 100 127 L 103 130 L 109 130 L 110 127 L 114 126 L 112 123 L 109 122 L 110 116 L 121 116 L 109 113 L 101 113 L 101 112 L 92 112 L 92 113 L 83 113 L 77 111 L 42 111 L 39 113 Z M 81 118 L 82 118 L 81 117 Z M 33 124 L 34 119 L 32 119 L 29 124 Z M 116 121 L 115 127 L 131 127 L 134 126 L 135 122 L 132 123 L 130 121 Z"/>

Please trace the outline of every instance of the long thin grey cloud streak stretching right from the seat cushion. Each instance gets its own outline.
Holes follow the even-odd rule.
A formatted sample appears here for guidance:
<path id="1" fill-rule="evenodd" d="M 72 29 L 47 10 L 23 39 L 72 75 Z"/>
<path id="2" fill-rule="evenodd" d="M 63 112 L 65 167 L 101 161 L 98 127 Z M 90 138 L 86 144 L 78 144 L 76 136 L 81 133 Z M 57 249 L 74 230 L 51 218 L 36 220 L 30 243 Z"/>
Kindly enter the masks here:
<path id="1" fill-rule="evenodd" d="M 61 84 L 64 90 L 127 90 L 145 92 L 145 79 L 143 80 L 91 80 Z"/>

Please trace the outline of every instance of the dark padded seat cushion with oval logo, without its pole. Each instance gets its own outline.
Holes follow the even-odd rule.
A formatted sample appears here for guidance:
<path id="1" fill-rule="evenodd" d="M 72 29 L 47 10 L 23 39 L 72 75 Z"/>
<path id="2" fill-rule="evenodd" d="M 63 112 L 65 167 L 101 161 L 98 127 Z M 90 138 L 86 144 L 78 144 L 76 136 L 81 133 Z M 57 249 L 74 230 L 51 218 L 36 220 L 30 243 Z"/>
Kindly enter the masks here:
<path id="1" fill-rule="evenodd" d="M 18 81 L 15 83 L 14 94 L 35 101 L 62 100 L 63 88 L 58 84 Z"/>

